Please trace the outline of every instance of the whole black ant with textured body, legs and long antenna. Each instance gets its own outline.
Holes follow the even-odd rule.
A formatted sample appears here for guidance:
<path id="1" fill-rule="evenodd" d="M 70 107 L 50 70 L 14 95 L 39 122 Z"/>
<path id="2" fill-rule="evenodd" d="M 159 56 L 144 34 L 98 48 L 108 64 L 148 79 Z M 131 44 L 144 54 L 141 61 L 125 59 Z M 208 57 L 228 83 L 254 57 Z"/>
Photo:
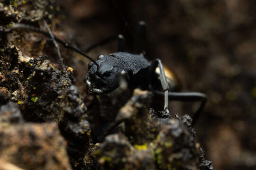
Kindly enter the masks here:
<path id="1" fill-rule="evenodd" d="M 144 34 L 145 22 L 139 22 L 137 35 Z M 86 84 L 88 93 L 92 95 L 106 94 L 114 91 L 119 87 L 120 76 L 123 77 L 128 86 L 132 89 L 141 88 L 144 90 L 150 90 L 158 96 L 164 96 L 164 114 L 169 115 L 168 101 L 183 101 L 183 102 L 201 102 L 199 109 L 193 115 L 193 123 L 199 117 L 199 114 L 203 110 L 207 98 L 203 93 L 197 92 L 177 92 L 178 83 L 175 77 L 166 77 L 165 69 L 160 59 L 155 59 L 149 62 L 143 53 L 131 54 L 125 52 L 125 39 L 122 35 L 110 37 L 101 42 L 93 44 L 87 49 L 87 52 L 91 49 L 110 42 L 111 40 L 118 39 L 118 52 L 109 55 L 99 55 L 95 61 L 78 48 L 63 42 L 55 35 L 48 32 L 39 30 L 33 26 L 27 26 L 24 24 L 16 24 L 13 29 L 25 29 L 31 30 L 37 33 L 46 35 L 55 39 L 55 41 L 64 45 L 65 48 L 76 51 L 82 56 L 90 59 L 88 74 L 86 76 Z M 134 42 L 134 47 L 137 47 L 137 40 Z M 136 51 L 136 50 L 134 50 Z"/>

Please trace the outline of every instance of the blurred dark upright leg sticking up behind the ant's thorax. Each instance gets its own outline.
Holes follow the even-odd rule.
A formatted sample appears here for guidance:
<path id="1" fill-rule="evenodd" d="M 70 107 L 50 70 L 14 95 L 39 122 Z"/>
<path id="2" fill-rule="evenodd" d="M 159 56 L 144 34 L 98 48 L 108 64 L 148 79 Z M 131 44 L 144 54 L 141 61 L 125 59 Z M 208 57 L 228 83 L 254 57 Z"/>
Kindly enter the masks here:
<path id="1" fill-rule="evenodd" d="M 133 53 L 138 54 L 140 51 L 138 49 L 140 48 L 141 40 L 145 41 L 146 39 L 146 26 L 145 26 L 145 21 L 139 21 L 138 26 L 137 26 L 137 31 L 136 35 L 134 37 L 134 42 L 133 42 Z"/>

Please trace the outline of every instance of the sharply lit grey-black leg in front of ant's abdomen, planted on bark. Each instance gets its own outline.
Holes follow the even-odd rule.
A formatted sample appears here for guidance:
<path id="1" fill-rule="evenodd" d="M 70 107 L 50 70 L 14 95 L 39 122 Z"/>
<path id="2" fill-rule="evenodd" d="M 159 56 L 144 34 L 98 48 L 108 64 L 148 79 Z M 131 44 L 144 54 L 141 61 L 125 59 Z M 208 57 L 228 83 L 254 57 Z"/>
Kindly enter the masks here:
<path id="1" fill-rule="evenodd" d="M 168 110 L 168 89 L 169 89 L 169 86 L 167 84 L 167 80 L 166 80 L 166 76 L 165 76 L 165 70 L 164 70 L 164 66 L 161 62 L 160 59 L 156 59 L 156 61 L 158 62 L 158 67 L 160 69 L 160 81 L 161 81 L 161 85 L 163 87 L 163 91 L 164 91 L 164 96 L 165 96 L 165 106 L 164 106 L 164 110 L 166 111 L 167 114 L 170 114 L 169 113 L 169 110 Z"/>

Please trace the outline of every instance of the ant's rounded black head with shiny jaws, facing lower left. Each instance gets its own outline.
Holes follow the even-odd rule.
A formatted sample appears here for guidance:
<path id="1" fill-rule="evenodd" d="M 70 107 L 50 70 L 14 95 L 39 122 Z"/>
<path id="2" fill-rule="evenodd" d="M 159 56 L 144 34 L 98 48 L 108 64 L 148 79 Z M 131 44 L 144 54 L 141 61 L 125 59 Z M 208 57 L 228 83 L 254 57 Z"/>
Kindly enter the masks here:
<path id="1" fill-rule="evenodd" d="M 92 64 L 86 76 L 88 93 L 98 95 L 110 93 L 119 86 L 120 74 L 117 60 L 113 55 L 100 55 L 97 64 Z"/>

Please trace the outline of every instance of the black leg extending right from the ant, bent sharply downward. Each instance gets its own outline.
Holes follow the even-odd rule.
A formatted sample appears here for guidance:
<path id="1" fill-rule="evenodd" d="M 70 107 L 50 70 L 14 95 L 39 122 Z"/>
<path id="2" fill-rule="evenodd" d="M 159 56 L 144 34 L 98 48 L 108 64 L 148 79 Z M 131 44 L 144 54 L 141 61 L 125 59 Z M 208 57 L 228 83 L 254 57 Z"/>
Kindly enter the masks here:
<path id="1" fill-rule="evenodd" d="M 158 96 L 163 96 L 163 92 L 155 91 L 154 92 Z M 201 115 L 202 110 L 207 102 L 207 96 L 204 93 L 197 93 L 197 92 L 169 92 L 168 93 L 169 99 L 174 101 L 181 101 L 181 102 L 201 102 L 200 107 L 192 116 L 192 125 L 194 125 L 198 118 Z"/>

